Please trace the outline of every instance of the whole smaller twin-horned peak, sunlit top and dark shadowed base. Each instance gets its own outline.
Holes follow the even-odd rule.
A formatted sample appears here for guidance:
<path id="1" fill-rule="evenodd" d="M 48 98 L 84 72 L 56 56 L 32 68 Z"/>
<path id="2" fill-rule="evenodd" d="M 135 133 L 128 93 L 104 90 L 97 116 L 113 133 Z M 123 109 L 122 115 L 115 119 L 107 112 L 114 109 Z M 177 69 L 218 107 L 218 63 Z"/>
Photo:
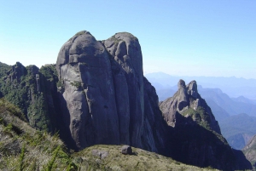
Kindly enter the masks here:
<path id="1" fill-rule="evenodd" d="M 250 169 L 252 166 L 234 151 L 220 133 L 218 122 L 206 101 L 197 92 L 195 81 L 178 83 L 177 93 L 160 102 L 169 132 L 170 157 L 188 164 L 224 170 Z"/>

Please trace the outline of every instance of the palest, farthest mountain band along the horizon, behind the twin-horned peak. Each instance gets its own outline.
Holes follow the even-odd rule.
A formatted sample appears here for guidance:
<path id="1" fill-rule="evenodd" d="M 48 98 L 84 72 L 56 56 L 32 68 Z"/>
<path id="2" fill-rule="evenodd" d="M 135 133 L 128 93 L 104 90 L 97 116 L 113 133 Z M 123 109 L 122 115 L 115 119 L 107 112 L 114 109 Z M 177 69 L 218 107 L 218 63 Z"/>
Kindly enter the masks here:
<path id="1" fill-rule="evenodd" d="M 160 83 L 163 88 L 170 88 L 177 84 L 179 79 L 185 82 L 196 80 L 203 88 L 220 88 L 230 97 L 244 96 L 256 100 L 256 79 L 245 79 L 237 77 L 180 77 L 171 76 L 163 72 L 148 73 L 145 75 L 152 84 Z"/>

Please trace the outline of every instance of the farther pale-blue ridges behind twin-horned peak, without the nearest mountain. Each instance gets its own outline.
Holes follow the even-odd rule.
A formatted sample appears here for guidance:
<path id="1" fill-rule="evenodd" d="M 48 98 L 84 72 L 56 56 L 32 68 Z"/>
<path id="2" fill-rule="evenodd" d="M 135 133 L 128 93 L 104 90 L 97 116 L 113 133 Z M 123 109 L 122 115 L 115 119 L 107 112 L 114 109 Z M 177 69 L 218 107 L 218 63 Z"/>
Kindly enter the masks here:
<path id="1" fill-rule="evenodd" d="M 256 102 L 255 100 L 250 100 L 246 95 L 250 92 L 253 92 L 250 96 L 253 96 L 253 94 L 256 95 L 256 88 L 245 88 L 256 85 L 255 79 L 236 77 L 173 77 L 163 72 L 146 74 L 146 77 L 154 85 L 154 88 L 156 88 L 160 100 L 166 100 L 166 98 L 172 97 L 174 92 L 177 91 L 177 82 L 179 79 L 183 78 L 184 81 L 187 80 L 186 82 L 195 79 L 201 85 L 198 86 L 199 94 L 201 94 L 203 99 L 207 100 L 217 120 L 221 120 L 228 115 L 231 116 L 240 113 L 256 116 Z M 230 92 L 232 88 L 237 88 L 236 94 L 240 95 L 236 97 L 235 94 L 232 93 L 230 95 L 226 92 Z M 243 94 L 245 91 L 247 93 Z"/>

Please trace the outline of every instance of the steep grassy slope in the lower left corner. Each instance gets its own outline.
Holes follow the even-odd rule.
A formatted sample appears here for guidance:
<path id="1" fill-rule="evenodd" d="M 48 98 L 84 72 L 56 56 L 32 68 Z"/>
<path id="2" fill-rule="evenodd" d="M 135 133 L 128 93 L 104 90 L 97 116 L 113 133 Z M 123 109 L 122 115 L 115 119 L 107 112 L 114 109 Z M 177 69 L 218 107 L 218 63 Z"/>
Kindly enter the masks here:
<path id="1" fill-rule="evenodd" d="M 67 170 L 69 164 L 74 166 L 58 136 L 32 128 L 21 116 L 15 105 L 0 100 L 0 170 Z"/>

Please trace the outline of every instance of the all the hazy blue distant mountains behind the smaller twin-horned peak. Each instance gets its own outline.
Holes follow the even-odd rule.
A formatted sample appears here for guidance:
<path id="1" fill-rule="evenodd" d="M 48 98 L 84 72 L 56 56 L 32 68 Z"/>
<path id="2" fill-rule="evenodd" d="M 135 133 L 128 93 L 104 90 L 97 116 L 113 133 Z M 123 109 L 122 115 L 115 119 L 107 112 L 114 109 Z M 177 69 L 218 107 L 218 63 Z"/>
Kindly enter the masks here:
<path id="1" fill-rule="evenodd" d="M 198 86 L 199 94 L 211 107 L 222 134 L 233 148 L 241 150 L 256 134 L 254 127 L 256 125 L 256 103 L 255 100 L 247 98 L 254 96 L 254 94 L 249 94 L 254 90 L 253 88 L 241 90 L 248 87 L 250 83 L 256 85 L 253 83 L 255 80 L 236 77 L 172 77 L 162 72 L 147 74 L 146 77 L 156 88 L 160 100 L 166 100 L 173 96 L 177 91 L 179 79 L 183 78 L 189 81 L 195 79 L 198 84 L 201 84 Z M 233 96 L 230 98 L 231 95 L 226 94 L 221 88 L 227 89 L 230 86 L 232 89 L 232 84 L 237 88 L 237 92 L 234 93 L 230 90 L 229 92 Z M 242 94 L 246 91 L 247 94 Z M 236 97 L 236 94 L 239 96 Z"/>

